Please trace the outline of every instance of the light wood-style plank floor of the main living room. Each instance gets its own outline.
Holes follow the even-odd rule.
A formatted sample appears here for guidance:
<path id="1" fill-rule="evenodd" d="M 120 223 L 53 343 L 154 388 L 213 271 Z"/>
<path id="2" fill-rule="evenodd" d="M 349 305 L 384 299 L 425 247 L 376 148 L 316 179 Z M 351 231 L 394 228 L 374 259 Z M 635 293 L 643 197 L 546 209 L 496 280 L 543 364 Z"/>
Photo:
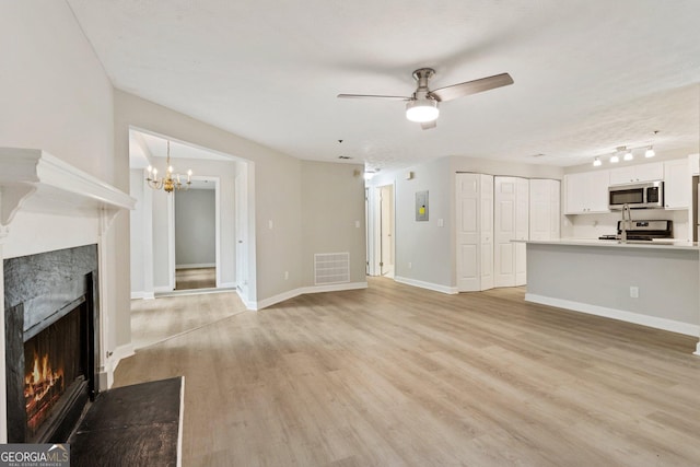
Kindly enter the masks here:
<path id="1" fill-rule="evenodd" d="M 700 465 L 697 339 L 523 296 L 371 278 L 144 348 L 115 381 L 185 375 L 184 466 Z"/>

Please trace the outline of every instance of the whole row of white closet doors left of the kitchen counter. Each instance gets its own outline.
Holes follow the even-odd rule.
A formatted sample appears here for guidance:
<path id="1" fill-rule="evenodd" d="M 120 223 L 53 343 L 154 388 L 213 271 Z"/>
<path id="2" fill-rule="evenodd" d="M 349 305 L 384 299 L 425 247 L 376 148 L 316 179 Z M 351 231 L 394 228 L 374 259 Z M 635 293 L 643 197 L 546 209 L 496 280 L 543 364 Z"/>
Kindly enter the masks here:
<path id="1" fill-rule="evenodd" d="M 524 285 L 526 248 L 559 237 L 560 183 L 483 174 L 456 177 L 457 289 Z"/>

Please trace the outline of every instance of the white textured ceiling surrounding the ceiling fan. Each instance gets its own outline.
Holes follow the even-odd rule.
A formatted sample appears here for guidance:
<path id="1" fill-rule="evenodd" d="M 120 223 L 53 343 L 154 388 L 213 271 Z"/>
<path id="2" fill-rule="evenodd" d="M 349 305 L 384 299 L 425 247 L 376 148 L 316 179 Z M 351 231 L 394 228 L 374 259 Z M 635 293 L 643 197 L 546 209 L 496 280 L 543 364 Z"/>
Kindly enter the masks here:
<path id="1" fill-rule="evenodd" d="M 658 153 L 700 145 L 698 0 L 68 3 L 116 87 L 300 159 L 568 166 L 654 130 Z M 515 83 L 443 103 L 427 131 L 401 102 L 336 98 L 410 95 L 421 67 L 433 89 Z"/>

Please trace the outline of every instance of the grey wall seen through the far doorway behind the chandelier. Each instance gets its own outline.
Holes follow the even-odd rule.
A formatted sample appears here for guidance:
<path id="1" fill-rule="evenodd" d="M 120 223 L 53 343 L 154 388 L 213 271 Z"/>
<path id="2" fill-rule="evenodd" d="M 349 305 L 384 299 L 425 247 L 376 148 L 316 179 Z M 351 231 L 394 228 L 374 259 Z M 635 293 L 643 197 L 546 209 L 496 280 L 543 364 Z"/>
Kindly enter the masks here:
<path id="1" fill-rule="evenodd" d="M 207 267 L 217 262 L 215 191 L 175 191 L 175 267 Z"/>

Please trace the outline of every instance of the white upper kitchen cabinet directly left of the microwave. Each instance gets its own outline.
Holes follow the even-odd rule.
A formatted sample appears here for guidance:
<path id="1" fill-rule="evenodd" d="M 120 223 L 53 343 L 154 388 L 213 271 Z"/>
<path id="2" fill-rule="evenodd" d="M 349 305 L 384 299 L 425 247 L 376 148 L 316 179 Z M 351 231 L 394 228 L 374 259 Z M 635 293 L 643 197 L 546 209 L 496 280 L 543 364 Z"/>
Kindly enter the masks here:
<path id="1" fill-rule="evenodd" d="M 609 212 L 609 170 L 564 175 L 564 214 Z"/>

